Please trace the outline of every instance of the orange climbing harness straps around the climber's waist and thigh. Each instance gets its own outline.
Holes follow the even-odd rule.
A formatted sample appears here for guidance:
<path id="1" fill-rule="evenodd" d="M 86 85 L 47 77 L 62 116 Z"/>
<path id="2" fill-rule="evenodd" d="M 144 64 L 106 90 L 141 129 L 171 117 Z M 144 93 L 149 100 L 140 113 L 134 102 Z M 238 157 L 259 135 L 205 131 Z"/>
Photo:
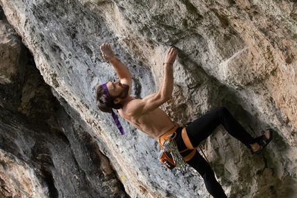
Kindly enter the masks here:
<path id="1" fill-rule="evenodd" d="M 159 137 L 159 144 L 160 147 L 163 149 L 164 148 L 164 141 L 167 139 L 174 139 L 176 136 L 176 132 L 175 130 L 177 130 L 180 126 L 178 126 L 177 124 L 175 124 L 175 126 L 173 126 L 173 128 L 171 128 L 169 131 L 165 132 L 162 136 Z M 186 155 L 184 158 L 184 161 L 189 161 L 190 159 L 192 159 L 196 153 L 196 148 L 194 148 L 192 146 L 192 143 L 186 133 L 186 128 L 182 128 L 182 140 L 184 141 L 184 144 L 186 145 L 186 150 L 193 150 L 189 155 Z M 180 153 L 185 152 L 186 150 L 182 150 L 180 151 Z"/>

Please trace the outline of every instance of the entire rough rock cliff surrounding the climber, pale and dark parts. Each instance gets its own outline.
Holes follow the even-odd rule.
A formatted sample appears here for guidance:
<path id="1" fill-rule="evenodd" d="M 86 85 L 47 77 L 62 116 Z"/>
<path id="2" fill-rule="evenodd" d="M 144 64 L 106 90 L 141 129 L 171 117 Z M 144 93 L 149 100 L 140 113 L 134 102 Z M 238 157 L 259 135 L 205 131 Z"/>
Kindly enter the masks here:
<path id="1" fill-rule="evenodd" d="M 34 64 L 0 12 L 2 195 L 208 196 L 195 170 L 166 170 L 154 139 L 122 119 L 126 135 L 120 135 L 97 109 L 96 86 L 116 78 L 99 52 L 110 42 L 131 70 L 137 97 L 157 90 L 168 46 L 180 49 L 173 99 L 162 106 L 173 120 L 185 123 L 227 106 L 254 136 L 274 128 L 260 156 L 224 128 L 202 143 L 229 197 L 296 197 L 296 1 L 0 4 L 59 101 L 36 71 L 28 74 Z"/>

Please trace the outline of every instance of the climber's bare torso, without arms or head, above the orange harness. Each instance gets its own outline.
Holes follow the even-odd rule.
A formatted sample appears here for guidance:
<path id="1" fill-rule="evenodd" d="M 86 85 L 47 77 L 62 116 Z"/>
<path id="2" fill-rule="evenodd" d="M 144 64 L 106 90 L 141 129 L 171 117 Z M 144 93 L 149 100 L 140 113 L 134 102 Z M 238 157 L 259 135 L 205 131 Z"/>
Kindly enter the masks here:
<path id="1" fill-rule="evenodd" d="M 133 105 L 133 103 L 137 103 L 137 100 L 140 99 L 133 99 L 132 101 L 129 101 L 122 109 L 119 110 L 119 115 L 121 115 L 121 117 L 126 119 L 129 123 L 132 123 L 137 129 L 155 139 L 158 139 L 174 126 L 173 121 L 161 108 L 156 108 L 144 115 L 131 115 L 131 113 L 128 112 L 128 106 Z"/>

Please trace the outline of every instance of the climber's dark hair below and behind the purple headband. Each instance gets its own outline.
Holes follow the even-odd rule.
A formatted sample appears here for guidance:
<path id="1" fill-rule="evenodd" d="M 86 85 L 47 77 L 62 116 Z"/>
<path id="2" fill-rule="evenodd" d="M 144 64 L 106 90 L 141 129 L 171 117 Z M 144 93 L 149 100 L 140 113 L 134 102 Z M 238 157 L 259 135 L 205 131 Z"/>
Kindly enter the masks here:
<path id="1" fill-rule="evenodd" d="M 113 112 L 113 108 L 115 109 L 122 108 L 121 103 L 117 103 L 117 104 L 114 103 L 116 97 L 105 94 L 104 89 L 102 88 L 102 85 L 97 86 L 95 95 L 96 95 L 97 106 L 103 112 Z"/>

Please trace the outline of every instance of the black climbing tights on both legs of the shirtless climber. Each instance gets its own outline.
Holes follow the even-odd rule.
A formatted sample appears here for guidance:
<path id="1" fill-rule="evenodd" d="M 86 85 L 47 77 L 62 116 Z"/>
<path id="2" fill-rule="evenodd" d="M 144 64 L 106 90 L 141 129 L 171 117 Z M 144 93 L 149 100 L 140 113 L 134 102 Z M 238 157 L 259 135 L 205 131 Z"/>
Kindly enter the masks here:
<path id="1" fill-rule="evenodd" d="M 251 137 L 251 135 L 249 135 L 249 133 L 244 128 L 242 128 L 240 123 L 238 123 L 238 121 L 233 118 L 229 110 L 227 110 L 227 108 L 220 107 L 196 119 L 186 127 L 186 131 L 192 145 L 194 147 L 198 146 L 199 143 L 204 139 L 207 139 L 213 130 L 215 130 L 215 128 L 217 128 L 217 126 L 220 124 L 224 126 L 230 135 L 244 143 L 248 148 L 249 143 L 254 143 L 253 137 Z M 181 128 L 178 128 L 176 132 L 177 137 L 175 140 L 178 144 L 178 149 L 185 150 L 186 146 L 182 141 L 180 133 Z M 227 197 L 224 193 L 224 190 L 222 189 L 222 186 L 220 186 L 218 181 L 215 179 L 213 170 L 211 170 L 211 167 L 199 152 L 196 152 L 195 156 L 190 161 L 187 161 L 187 163 L 200 173 L 204 179 L 207 190 L 213 197 Z"/>

